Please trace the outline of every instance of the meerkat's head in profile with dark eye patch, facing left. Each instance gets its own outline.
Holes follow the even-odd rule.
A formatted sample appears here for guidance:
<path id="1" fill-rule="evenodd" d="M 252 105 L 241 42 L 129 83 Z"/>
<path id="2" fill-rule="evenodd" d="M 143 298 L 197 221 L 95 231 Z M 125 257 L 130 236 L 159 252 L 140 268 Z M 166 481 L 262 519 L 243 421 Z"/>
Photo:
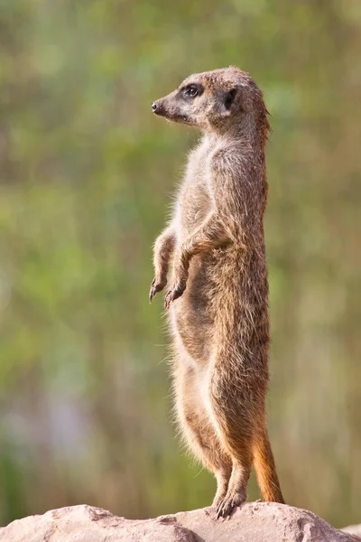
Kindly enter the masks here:
<path id="1" fill-rule="evenodd" d="M 180 87 L 152 104 L 153 113 L 202 130 L 225 133 L 242 121 L 266 121 L 262 92 L 234 66 L 190 75 Z"/>

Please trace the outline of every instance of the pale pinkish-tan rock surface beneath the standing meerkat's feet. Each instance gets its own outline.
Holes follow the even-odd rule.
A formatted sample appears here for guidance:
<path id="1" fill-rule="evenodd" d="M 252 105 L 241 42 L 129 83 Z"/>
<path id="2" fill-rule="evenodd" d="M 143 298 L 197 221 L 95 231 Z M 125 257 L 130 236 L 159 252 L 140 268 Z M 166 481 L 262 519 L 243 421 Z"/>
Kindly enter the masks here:
<path id="1" fill-rule="evenodd" d="M 213 509 L 156 519 L 119 518 L 87 505 L 17 519 L 0 529 L 0 542 L 360 542 L 308 510 L 271 502 L 246 503 L 230 519 Z"/>

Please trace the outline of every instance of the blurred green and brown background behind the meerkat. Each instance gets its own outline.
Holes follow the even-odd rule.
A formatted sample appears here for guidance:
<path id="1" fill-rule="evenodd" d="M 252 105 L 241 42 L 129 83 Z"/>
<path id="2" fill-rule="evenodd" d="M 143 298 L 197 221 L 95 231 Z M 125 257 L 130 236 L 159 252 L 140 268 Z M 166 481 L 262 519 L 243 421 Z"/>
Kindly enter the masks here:
<path id="1" fill-rule="evenodd" d="M 269 427 L 289 504 L 361 521 L 359 0 L 0 0 L 0 522 L 208 505 L 180 450 L 152 244 L 197 134 L 150 104 L 264 89 Z M 255 480 L 250 498 L 258 497 Z"/>

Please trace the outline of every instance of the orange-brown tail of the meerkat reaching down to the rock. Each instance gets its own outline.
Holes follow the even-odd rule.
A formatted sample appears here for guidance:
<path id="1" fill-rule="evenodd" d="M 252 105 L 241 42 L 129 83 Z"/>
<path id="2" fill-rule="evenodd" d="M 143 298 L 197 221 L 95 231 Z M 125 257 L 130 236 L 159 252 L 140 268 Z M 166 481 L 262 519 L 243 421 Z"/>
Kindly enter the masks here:
<path id="1" fill-rule="evenodd" d="M 253 453 L 255 474 L 263 499 L 284 503 L 267 430 L 257 435 Z"/>

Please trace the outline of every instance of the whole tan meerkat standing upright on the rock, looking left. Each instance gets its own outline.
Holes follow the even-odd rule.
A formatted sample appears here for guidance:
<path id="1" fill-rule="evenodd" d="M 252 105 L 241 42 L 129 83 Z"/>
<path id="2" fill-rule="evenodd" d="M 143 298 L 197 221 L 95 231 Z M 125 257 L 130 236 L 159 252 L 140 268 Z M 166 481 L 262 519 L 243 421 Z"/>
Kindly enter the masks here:
<path id="1" fill-rule="evenodd" d="M 227 517 L 252 465 L 264 500 L 284 502 L 265 420 L 270 342 L 264 247 L 269 124 L 261 90 L 229 67 L 191 75 L 153 113 L 203 132 L 171 220 L 154 244 L 150 301 L 170 280 L 175 407 Z"/>

